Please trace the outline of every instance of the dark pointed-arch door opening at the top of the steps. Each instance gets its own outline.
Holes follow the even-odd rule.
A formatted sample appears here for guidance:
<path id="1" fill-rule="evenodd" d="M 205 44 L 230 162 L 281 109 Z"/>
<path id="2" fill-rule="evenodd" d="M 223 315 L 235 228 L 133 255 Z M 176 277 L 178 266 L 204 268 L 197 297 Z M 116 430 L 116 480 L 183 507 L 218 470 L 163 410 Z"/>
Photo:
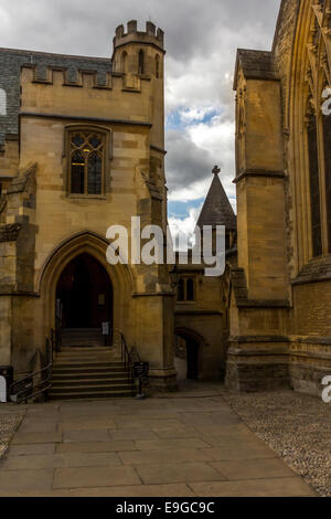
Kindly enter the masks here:
<path id="1" fill-rule="evenodd" d="M 113 328 L 113 286 L 106 269 L 89 254 L 75 257 L 56 288 L 60 328 Z"/>

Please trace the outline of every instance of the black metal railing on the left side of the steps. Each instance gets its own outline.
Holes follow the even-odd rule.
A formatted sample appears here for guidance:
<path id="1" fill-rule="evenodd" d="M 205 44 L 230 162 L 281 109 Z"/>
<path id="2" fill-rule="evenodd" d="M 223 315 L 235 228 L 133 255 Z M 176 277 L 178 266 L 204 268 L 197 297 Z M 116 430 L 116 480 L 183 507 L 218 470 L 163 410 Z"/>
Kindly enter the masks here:
<path id="1" fill-rule="evenodd" d="M 18 404 L 46 393 L 52 388 L 52 368 L 54 352 L 54 330 L 51 339 L 46 339 L 46 367 L 17 380 L 10 385 L 10 400 Z"/>

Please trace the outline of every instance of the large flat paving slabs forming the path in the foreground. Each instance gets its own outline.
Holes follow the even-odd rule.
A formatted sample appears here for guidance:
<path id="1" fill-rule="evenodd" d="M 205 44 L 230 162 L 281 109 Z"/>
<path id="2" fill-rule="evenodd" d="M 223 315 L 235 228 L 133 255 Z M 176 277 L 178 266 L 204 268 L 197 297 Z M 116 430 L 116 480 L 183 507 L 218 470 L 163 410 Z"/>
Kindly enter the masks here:
<path id="1" fill-rule="evenodd" d="M 316 495 L 221 395 L 183 396 L 24 406 L 0 496 Z"/>

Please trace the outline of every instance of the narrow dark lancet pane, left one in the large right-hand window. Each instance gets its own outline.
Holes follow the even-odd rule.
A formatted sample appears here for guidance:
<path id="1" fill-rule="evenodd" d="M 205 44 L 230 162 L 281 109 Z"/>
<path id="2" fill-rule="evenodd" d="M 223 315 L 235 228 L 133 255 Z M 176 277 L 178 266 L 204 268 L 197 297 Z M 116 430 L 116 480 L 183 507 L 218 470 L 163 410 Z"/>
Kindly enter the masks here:
<path id="1" fill-rule="evenodd" d="M 310 186 L 312 254 L 316 257 L 322 254 L 322 235 L 321 235 L 319 161 L 318 161 L 318 136 L 317 136 L 317 120 L 316 120 L 314 114 L 311 114 L 309 117 L 307 134 L 308 134 L 308 153 L 309 153 L 309 186 Z"/>

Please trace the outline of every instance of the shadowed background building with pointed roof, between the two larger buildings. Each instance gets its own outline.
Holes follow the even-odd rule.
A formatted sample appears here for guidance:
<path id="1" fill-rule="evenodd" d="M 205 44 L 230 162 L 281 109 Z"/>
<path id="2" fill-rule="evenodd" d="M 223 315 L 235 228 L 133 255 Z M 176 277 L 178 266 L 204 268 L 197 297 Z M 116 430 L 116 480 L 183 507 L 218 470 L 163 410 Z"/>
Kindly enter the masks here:
<path id="1" fill-rule="evenodd" d="M 218 168 L 201 210 L 196 225 L 225 226 L 226 269 L 223 276 L 205 276 L 206 265 L 181 265 L 174 309 L 175 368 L 181 378 L 224 380 L 229 333 L 231 267 L 236 266 L 236 216 L 221 183 Z M 191 255 L 190 255 L 191 253 Z M 183 360 L 186 361 L 183 362 Z M 186 371 L 185 371 L 186 370 Z"/>

